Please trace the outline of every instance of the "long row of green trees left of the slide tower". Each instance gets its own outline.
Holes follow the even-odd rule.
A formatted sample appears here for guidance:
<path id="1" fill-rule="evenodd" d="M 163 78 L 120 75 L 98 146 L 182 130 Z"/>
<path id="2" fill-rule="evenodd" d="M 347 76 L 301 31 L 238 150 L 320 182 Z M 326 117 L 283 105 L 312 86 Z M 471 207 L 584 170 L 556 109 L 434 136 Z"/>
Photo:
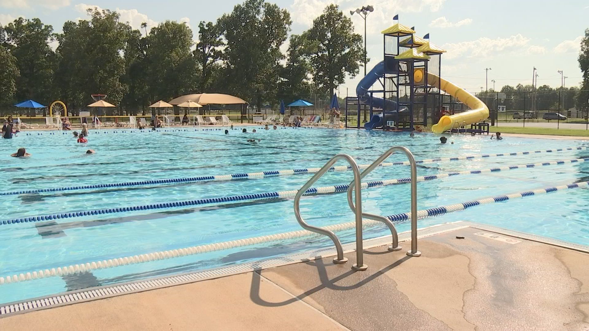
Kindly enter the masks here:
<path id="1" fill-rule="evenodd" d="M 90 94 L 108 94 L 120 111 L 137 114 L 157 100 L 200 92 L 237 95 L 258 108 L 311 95 L 329 100 L 358 74 L 364 56 L 362 37 L 337 5 L 289 38 L 289 11 L 246 0 L 215 22 L 200 22 L 196 43 L 185 23 L 148 31 L 115 11 L 93 8 L 88 16 L 65 22 L 61 33 L 38 18 L 0 26 L 0 106 L 62 100 L 77 110 Z"/>

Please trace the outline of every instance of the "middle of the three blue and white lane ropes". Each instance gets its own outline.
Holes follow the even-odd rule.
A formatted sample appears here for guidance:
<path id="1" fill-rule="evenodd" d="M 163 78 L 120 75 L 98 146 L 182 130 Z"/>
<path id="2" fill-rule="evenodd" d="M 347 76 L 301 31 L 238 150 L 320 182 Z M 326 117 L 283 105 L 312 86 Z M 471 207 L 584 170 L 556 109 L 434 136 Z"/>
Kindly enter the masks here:
<path id="1" fill-rule="evenodd" d="M 589 158 L 573 158 L 571 160 L 520 164 L 519 166 L 504 166 L 504 167 L 488 168 L 488 169 L 482 169 L 482 170 L 452 171 L 451 173 L 418 176 L 417 181 L 438 180 L 438 179 L 442 179 L 442 178 L 455 177 L 455 176 L 460 176 L 460 175 L 497 173 L 500 171 L 509 171 L 509 170 L 522 169 L 522 168 L 554 166 L 557 164 L 560 165 L 560 164 L 567 164 L 567 163 L 583 163 L 585 161 L 589 161 Z M 411 178 L 404 177 L 404 178 L 393 178 L 393 179 L 388 179 L 388 180 L 376 180 L 376 181 L 362 182 L 360 184 L 360 186 L 362 188 L 371 188 L 371 187 L 381 187 L 381 186 L 389 186 L 389 185 L 394 185 L 394 184 L 405 184 L 405 183 L 411 183 Z M 305 192 L 305 196 L 312 196 L 315 194 L 342 193 L 342 192 L 347 191 L 348 187 L 349 187 L 349 184 L 323 186 L 323 187 L 312 187 L 312 188 L 309 188 Z M 227 202 L 233 202 L 233 201 L 244 201 L 244 200 L 255 201 L 255 200 L 267 200 L 267 199 L 276 199 L 276 198 L 292 198 L 292 197 L 296 196 L 297 192 L 298 192 L 298 190 L 275 191 L 275 192 L 266 192 L 266 193 L 244 194 L 241 196 L 229 196 L 229 197 L 220 197 L 220 198 L 203 198 L 203 199 L 189 200 L 189 201 L 174 201 L 171 203 L 148 204 L 148 205 L 144 205 L 144 206 L 104 208 L 104 209 L 87 210 L 87 211 L 72 211 L 72 212 L 68 212 L 68 213 L 58 213 L 58 214 L 50 214 L 50 215 L 42 215 L 42 216 L 21 217 L 19 219 L 3 220 L 3 221 L 0 221 L 0 225 L 29 223 L 29 222 L 38 222 L 38 221 L 50 221 L 50 220 L 59 220 L 59 219 L 71 219 L 73 217 L 125 213 L 128 211 L 137 211 L 137 210 L 153 210 L 153 209 L 161 209 L 161 208 L 200 206 L 203 204 L 213 204 L 213 203 L 220 204 L 220 203 L 227 203 Z"/>

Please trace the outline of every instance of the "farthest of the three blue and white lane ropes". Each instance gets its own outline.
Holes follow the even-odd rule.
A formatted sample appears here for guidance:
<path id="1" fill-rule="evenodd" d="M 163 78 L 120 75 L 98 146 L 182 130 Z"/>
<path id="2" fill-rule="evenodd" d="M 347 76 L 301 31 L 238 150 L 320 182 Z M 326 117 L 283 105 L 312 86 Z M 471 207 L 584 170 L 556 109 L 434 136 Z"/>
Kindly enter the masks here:
<path id="1" fill-rule="evenodd" d="M 416 161 L 418 164 L 428 163 L 439 163 L 448 161 L 464 161 L 471 160 L 474 158 L 489 158 L 489 157 L 502 157 L 502 156 L 514 156 L 514 155 L 528 155 L 535 153 L 553 153 L 560 151 L 573 151 L 573 150 L 587 150 L 589 147 L 569 147 L 559 148 L 556 150 L 545 150 L 545 151 L 530 151 L 530 152 L 515 152 L 515 153 L 504 153 L 504 154 L 481 154 L 481 155 L 470 155 L 470 156 L 459 156 L 459 157 L 445 157 L 445 158 L 430 158 L 427 160 Z M 381 163 L 380 167 L 390 166 L 408 166 L 409 161 L 403 162 L 388 162 Z M 360 169 L 368 168 L 370 164 L 360 164 Z M 200 176 L 200 177 L 185 177 L 185 178 L 167 178 L 157 180 L 142 180 L 142 181 L 129 181 L 125 183 L 110 183 L 110 184 L 93 184 L 84 186 L 68 186 L 68 187 L 56 187 L 56 188 L 41 188 L 38 190 L 27 190 L 27 191 L 13 191 L 13 192 L 1 192 L 0 196 L 14 196 L 16 194 L 35 194 L 35 193 L 47 193 L 47 192 L 59 192 L 59 191 L 73 191 L 73 190 L 88 190 L 91 188 L 110 188 L 110 187 L 129 187 L 129 186 L 143 186 L 153 184 L 170 184 L 170 183 L 197 183 L 199 181 L 226 181 L 226 180 L 238 180 L 238 179 L 254 179 L 254 178 L 265 178 L 265 177 L 277 177 L 277 176 L 288 176 L 293 174 L 307 174 L 316 173 L 321 167 L 318 168 L 302 168 L 302 169 L 290 169 L 290 170 L 270 170 L 270 171 L 257 171 L 254 173 L 241 173 L 241 174 L 228 174 L 218 176 Z M 336 166 L 331 167 L 329 171 L 348 171 L 352 170 L 351 166 Z"/>

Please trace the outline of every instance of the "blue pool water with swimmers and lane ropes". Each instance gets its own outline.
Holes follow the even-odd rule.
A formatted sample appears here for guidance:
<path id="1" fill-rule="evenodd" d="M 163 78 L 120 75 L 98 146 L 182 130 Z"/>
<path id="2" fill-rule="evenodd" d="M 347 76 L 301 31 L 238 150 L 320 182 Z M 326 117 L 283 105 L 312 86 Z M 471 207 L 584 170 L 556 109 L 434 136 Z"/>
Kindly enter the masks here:
<path id="1" fill-rule="evenodd" d="M 229 135 L 224 135 L 223 131 L 194 131 L 193 128 L 160 132 L 115 131 L 118 132 L 91 131 L 87 144 L 78 144 L 71 134 L 64 135 L 60 131 L 31 131 L 29 135 L 21 133 L 12 140 L 0 141 L 2 191 L 320 167 L 337 153 L 348 153 L 359 164 L 369 164 L 393 145 L 408 147 L 418 160 L 587 145 L 580 141 L 511 137 L 495 141 L 489 140 L 488 136 L 466 135 L 454 135 L 448 144 L 441 145 L 434 135 L 429 134 L 418 134 L 412 139 L 406 133 L 322 128 L 258 129 L 256 134 L 231 130 Z M 261 138 L 262 141 L 249 144 L 246 138 Z M 32 157 L 9 157 L 19 147 L 26 147 Z M 97 154 L 85 155 L 88 148 L 96 150 Z M 418 167 L 418 176 L 586 156 L 589 151 L 562 151 L 422 164 Z M 395 154 L 389 160 L 405 161 L 405 158 Z M 310 176 L 297 174 L 1 196 L 0 222 L 72 211 L 297 190 Z M 383 167 L 373 171 L 365 181 L 408 176 L 409 167 Z M 328 173 L 317 181 L 315 187 L 348 184 L 351 178 L 350 171 Z M 587 180 L 587 163 L 456 176 L 419 183 L 418 209 Z M 363 190 L 363 208 L 369 213 L 405 213 L 410 209 L 409 201 L 409 185 L 406 184 Z M 317 226 L 353 220 L 345 194 L 303 198 L 301 210 L 307 222 Z M 589 191 L 578 188 L 479 206 L 420 220 L 419 227 L 456 220 L 589 244 Z M 398 223 L 397 226 L 399 231 L 409 229 L 408 223 Z M 300 226 L 294 219 L 292 199 L 161 208 L 2 225 L 0 276 L 293 230 L 300 230 Z M 384 226 L 376 226 L 366 230 L 365 238 L 386 234 Z M 343 242 L 353 241 L 351 230 L 338 235 Z M 0 286 L 0 303 L 264 259 L 330 244 L 329 239 L 307 237 L 4 284 Z"/>

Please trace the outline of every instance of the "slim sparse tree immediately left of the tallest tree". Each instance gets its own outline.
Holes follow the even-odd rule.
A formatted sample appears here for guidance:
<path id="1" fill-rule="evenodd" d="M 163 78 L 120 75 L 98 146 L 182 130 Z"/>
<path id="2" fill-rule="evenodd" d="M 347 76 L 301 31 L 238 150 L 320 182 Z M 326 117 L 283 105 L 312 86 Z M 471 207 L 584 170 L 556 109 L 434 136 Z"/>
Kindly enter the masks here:
<path id="1" fill-rule="evenodd" d="M 198 43 L 194 49 L 194 57 L 201 69 L 200 84 L 198 85 L 200 92 L 205 92 L 207 88 L 210 88 L 211 74 L 215 68 L 219 68 L 216 64 L 223 58 L 221 47 L 225 43 L 221 37 L 219 25 L 204 21 L 198 24 Z"/>

